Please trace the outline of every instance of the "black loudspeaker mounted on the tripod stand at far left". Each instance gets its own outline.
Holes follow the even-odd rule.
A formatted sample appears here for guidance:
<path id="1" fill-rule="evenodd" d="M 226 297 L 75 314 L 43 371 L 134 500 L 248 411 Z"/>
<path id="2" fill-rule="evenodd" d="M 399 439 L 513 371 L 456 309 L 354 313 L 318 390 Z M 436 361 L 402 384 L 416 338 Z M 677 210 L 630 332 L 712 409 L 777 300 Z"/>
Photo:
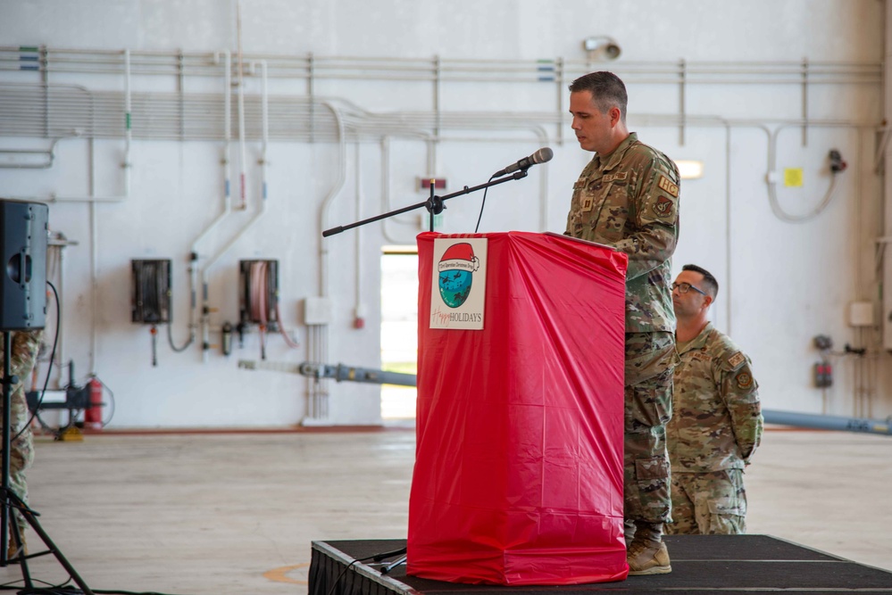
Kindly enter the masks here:
<path id="1" fill-rule="evenodd" d="M 0 199 L 0 330 L 46 326 L 46 236 L 43 202 Z"/>

